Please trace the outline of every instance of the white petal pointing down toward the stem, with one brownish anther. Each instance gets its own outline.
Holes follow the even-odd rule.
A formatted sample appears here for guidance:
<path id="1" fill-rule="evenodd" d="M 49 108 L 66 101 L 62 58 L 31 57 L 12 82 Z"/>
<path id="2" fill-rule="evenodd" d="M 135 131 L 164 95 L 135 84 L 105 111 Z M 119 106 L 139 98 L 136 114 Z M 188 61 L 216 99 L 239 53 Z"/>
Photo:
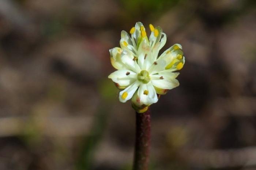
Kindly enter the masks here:
<path id="1" fill-rule="evenodd" d="M 141 84 L 139 86 L 138 96 L 140 98 L 140 102 L 145 105 L 157 103 L 158 101 L 157 93 L 155 92 L 155 89 L 151 82 L 149 82 L 148 84 Z"/>

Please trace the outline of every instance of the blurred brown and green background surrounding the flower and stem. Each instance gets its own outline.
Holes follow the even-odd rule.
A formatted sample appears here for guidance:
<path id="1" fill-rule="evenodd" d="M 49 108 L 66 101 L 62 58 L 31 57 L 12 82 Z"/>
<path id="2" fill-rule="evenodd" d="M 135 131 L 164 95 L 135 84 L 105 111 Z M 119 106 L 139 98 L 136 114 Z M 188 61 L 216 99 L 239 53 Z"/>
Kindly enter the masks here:
<path id="1" fill-rule="evenodd" d="M 186 57 L 151 107 L 151 170 L 256 169 L 255 0 L 0 0 L 1 170 L 131 170 L 108 50 L 137 21 Z"/>

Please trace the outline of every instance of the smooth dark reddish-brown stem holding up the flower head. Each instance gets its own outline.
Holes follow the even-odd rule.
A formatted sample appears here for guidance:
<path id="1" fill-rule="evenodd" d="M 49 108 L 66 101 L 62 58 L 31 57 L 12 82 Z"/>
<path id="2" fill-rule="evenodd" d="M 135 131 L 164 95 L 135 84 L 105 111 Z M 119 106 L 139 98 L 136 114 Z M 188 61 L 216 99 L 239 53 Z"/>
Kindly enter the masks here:
<path id="1" fill-rule="evenodd" d="M 150 148 L 150 111 L 136 112 L 136 139 L 133 170 L 148 170 Z"/>

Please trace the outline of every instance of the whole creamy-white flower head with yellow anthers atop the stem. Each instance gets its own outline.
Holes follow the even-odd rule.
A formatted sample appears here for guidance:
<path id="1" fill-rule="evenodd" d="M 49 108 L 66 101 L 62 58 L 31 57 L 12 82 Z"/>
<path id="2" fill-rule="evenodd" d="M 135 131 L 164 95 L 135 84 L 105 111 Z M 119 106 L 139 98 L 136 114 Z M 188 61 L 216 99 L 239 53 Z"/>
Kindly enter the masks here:
<path id="1" fill-rule="evenodd" d="M 116 84 L 119 100 L 125 103 L 132 98 L 132 106 L 138 112 L 144 112 L 148 106 L 157 103 L 157 94 L 166 94 L 167 90 L 179 86 L 174 71 L 182 69 L 185 63 L 182 47 L 174 44 L 159 57 L 159 50 L 166 43 L 166 34 L 161 27 L 149 25 L 150 36 L 145 27 L 137 22 L 130 30 L 121 31 L 120 47 L 110 49 L 110 61 L 117 71 L 108 78 Z"/>

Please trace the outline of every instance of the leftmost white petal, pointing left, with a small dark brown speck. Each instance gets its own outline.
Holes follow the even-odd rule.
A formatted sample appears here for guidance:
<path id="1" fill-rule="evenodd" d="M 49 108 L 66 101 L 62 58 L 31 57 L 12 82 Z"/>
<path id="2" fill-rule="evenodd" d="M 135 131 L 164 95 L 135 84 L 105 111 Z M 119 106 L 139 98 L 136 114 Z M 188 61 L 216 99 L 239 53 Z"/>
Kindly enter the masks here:
<path id="1" fill-rule="evenodd" d="M 117 70 L 111 73 L 108 78 L 120 86 L 129 86 L 136 81 L 137 75 L 131 70 Z"/>

